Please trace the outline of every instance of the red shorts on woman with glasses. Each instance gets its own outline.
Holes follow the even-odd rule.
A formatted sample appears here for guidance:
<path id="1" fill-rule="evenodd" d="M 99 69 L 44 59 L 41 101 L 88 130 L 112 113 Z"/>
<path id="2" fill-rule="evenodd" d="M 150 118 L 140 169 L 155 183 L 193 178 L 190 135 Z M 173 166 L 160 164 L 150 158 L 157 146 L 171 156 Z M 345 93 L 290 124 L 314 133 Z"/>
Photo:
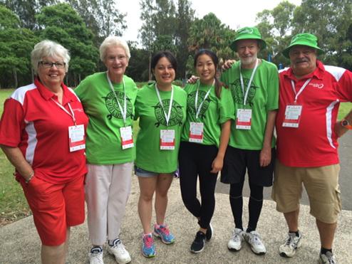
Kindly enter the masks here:
<path id="1" fill-rule="evenodd" d="M 79 176 L 66 184 L 50 184 L 34 176 L 29 184 L 20 181 L 43 245 L 61 245 L 66 229 L 84 222 L 83 180 Z"/>

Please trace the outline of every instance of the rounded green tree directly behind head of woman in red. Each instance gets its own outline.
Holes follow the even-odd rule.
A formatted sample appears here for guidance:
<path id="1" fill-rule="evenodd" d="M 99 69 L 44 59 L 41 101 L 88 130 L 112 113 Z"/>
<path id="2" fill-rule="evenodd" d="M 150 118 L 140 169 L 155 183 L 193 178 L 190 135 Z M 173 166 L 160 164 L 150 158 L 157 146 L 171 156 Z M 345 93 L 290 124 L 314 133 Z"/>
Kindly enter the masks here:
<path id="1" fill-rule="evenodd" d="M 93 33 L 71 6 L 47 6 L 38 14 L 37 20 L 41 38 L 57 41 L 71 53 L 69 73 L 73 74 L 68 83 L 76 86 L 84 76 L 95 71 L 99 57 L 98 49 L 93 45 Z"/>

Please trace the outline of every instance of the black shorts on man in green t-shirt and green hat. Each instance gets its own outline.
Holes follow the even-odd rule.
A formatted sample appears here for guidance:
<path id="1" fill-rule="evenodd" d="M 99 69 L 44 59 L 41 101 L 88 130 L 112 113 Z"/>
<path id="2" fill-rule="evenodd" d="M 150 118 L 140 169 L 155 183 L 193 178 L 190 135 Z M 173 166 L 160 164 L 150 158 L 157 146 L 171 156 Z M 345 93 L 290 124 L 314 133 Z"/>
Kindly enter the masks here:
<path id="1" fill-rule="evenodd" d="M 237 184 L 244 181 L 246 170 L 250 184 L 271 186 L 275 162 L 275 149 L 271 149 L 271 162 L 266 167 L 260 167 L 259 157 L 261 150 L 237 149 L 228 146 L 224 157 L 224 167 L 221 171 L 221 182 Z"/>

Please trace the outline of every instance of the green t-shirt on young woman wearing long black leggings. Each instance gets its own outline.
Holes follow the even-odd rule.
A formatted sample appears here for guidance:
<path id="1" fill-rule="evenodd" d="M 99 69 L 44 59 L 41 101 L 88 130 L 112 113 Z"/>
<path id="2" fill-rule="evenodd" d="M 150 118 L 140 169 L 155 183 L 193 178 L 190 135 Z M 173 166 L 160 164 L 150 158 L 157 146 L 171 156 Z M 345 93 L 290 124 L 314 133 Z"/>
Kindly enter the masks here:
<path id="1" fill-rule="evenodd" d="M 199 107 L 201 102 L 204 102 L 197 119 L 195 97 L 198 85 L 197 107 Z M 207 99 L 204 100 L 209 89 L 210 93 Z M 187 92 L 187 119 L 183 126 L 181 141 L 189 141 L 190 122 L 202 122 L 203 142 L 201 144 L 219 147 L 221 125 L 227 120 L 234 120 L 234 102 L 232 100 L 231 91 L 223 87 L 219 99 L 215 94 L 214 85 L 202 85 L 200 81 L 197 81 L 195 84 L 187 84 L 185 91 Z"/>

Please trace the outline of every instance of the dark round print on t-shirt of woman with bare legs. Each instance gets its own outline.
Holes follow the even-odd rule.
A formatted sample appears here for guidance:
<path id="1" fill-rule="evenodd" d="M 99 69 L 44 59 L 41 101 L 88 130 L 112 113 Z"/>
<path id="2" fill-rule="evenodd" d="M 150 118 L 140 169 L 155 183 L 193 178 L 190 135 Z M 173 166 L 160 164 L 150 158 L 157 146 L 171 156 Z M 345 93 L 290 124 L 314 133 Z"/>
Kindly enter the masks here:
<path id="1" fill-rule="evenodd" d="M 162 100 L 162 105 L 164 106 L 165 110 L 168 110 L 170 105 L 170 99 Z M 162 106 L 160 105 L 160 102 L 157 102 L 157 105 L 154 106 L 154 113 L 155 113 L 155 118 L 157 120 L 157 122 L 155 123 L 155 127 L 159 127 L 160 125 L 164 125 L 165 127 L 167 127 L 165 113 L 164 113 L 164 110 L 162 110 Z M 182 120 L 183 120 L 182 106 L 178 102 L 173 100 L 168 127 L 172 127 L 174 125 L 182 126 Z"/>

